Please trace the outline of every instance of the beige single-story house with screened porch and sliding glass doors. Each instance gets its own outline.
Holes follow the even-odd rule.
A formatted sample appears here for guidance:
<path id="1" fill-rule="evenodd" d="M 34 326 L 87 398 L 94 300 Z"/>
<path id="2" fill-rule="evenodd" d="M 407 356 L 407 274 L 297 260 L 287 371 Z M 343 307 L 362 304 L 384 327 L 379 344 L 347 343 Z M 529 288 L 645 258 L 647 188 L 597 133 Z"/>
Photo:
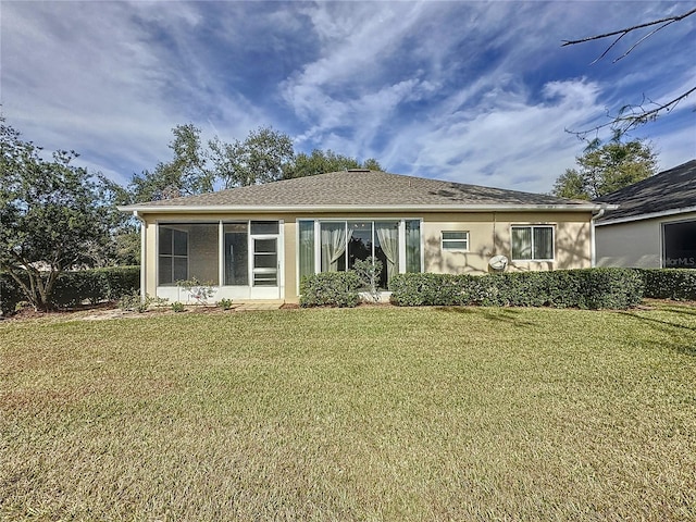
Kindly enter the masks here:
<path id="1" fill-rule="evenodd" d="M 297 301 L 299 282 L 357 259 L 397 273 L 587 268 L 605 203 L 349 170 L 123 207 L 141 221 L 142 291 L 182 299 L 196 277 L 214 299 Z"/>

